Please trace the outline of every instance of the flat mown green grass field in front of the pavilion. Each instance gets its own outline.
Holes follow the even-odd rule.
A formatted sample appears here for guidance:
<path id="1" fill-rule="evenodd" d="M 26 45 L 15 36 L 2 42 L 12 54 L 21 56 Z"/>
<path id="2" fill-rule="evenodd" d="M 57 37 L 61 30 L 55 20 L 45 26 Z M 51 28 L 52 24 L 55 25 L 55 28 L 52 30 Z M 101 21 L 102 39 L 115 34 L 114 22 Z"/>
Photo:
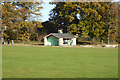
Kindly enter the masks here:
<path id="1" fill-rule="evenodd" d="M 117 78 L 118 48 L 2 46 L 3 78 Z"/>

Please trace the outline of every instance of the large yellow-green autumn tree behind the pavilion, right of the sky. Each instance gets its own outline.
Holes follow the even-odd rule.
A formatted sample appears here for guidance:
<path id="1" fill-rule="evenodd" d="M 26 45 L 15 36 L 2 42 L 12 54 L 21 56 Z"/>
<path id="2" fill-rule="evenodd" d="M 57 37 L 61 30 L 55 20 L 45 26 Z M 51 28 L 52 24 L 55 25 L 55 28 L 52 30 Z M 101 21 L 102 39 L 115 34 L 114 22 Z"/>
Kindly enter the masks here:
<path id="1" fill-rule="evenodd" d="M 90 39 L 106 39 L 108 26 L 114 21 L 110 13 L 111 2 L 53 2 L 56 7 L 50 13 L 50 21 L 59 24 L 65 32 L 89 36 Z M 108 22 L 110 24 L 108 25 Z M 111 31 L 113 26 L 110 27 Z"/>

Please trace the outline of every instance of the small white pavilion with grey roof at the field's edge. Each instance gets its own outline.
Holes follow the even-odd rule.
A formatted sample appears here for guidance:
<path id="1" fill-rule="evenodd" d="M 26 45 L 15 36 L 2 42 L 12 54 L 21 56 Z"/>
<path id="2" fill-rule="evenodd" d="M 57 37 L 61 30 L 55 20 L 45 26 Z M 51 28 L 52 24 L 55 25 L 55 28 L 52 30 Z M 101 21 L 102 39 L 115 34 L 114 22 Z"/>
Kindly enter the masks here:
<path id="1" fill-rule="evenodd" d="M 44 45 L 46 46 L 76 45 L 76 38 L 68 33 L 50 33 L 44 37 Z"/>

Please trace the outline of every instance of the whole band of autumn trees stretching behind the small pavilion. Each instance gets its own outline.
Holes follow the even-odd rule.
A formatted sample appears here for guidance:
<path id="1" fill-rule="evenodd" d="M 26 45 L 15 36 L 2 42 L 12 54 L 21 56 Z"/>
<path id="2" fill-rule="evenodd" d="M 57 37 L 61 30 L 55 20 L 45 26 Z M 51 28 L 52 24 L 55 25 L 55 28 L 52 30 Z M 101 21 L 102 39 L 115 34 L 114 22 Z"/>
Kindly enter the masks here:
<path id="1" fill-rule="evenodd" d="M 89 40 L 111 41 L 118 38 L 117 2 L 50 2 L 49 21 L 40 22 L 42 3 L 2 3 L 3 36 L 12 40 L 38 40 L 48 33 L 63 29 L 64 33 Z M 34 17 L 33 17 L 34 15 Z"/>

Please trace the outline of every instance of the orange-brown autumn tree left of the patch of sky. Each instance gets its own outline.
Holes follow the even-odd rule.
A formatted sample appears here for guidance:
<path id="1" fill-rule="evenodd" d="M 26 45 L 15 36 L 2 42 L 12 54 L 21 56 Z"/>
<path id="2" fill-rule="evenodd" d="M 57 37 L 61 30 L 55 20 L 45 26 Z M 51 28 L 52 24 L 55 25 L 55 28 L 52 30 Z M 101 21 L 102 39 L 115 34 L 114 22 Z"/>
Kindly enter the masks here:
<path id="1" fill-rule="evenodd" d="M 2 25 L 7 26 L 7 30 L 16 31 L 18 38 L 26 40 L 30 38 L 32 32 L 41 28 L 39 13 L 42 7 L 39 2 L 3 2 L 2 3 Z M 31 16 L 35 16 L 35 18 Z M 5 33 L 4 33 L 5 34 Z M 5 34 L 6 35 L 6 34 Z M 26 36 L 26 38 L 23 38 Z"/>

